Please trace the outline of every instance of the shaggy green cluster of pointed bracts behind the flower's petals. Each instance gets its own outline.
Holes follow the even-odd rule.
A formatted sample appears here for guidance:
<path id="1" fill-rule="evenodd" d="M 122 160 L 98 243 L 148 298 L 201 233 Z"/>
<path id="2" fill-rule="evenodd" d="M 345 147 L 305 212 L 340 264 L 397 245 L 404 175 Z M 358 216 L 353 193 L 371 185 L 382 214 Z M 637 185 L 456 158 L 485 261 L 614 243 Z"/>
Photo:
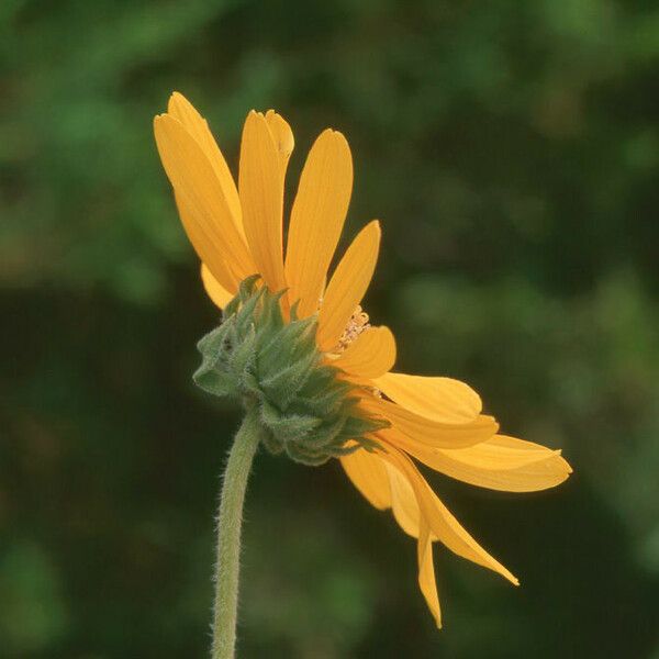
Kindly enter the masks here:
<path id="1" fill-rule="evenodd" d="M 357 409 L 357 387 L 323 364 L 316 317 L 284 322 L 280 293 L 256 288 L 249 277 L 226 305 L 222 324 L 198 344 L 203 360 L 194 382 L 204 391 L 258 405 L 263 443 L 304 465 L 321 465 L 376 443 L 367 433 L 388 422 Z M 355 444 L 346 447 L 353 439 Z"/>

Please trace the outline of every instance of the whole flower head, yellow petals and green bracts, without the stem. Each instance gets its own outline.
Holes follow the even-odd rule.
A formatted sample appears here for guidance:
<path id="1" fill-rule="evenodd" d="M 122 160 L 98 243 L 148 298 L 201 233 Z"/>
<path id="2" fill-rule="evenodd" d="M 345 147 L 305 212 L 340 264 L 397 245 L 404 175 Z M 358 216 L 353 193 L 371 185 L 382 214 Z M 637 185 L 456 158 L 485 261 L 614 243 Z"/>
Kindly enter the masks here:
<path id="1" fill-rule="evenodd" d="M 361 308 L 378 257 L 378 221 L 328 275 L 353 187 L 345 137 L 326 130 L 313 144 L 284 257 L 284 177 L 294 144 L 288 123 L 272 110 L 247 115 L 237 188 L 206 122 L 181 94 L 154 125 L 204 287 L 224 310 L 220 327 L 200 342 L 197 382 L 257 405 L 270 450 L 311 465 L 337 458 L 375 507 L 392 510 L 417 540 L 418 583 L 438 626 L 434 541 L 517 584 L 451 515 L 415 460 L 512 492 L 551 488 L 571 469 L 558 450 L 500 435 L 467 384 L 391 370 L 394 337 Z"/>

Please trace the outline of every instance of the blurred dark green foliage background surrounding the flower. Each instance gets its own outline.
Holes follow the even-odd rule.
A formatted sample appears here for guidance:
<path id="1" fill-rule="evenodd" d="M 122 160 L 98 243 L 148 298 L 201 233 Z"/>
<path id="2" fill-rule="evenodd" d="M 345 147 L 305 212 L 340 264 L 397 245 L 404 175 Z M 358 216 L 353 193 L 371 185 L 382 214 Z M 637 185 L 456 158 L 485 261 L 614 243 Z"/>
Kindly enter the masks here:
<path id="1" fill-rule="evenodd" d="M 522 579 L 414 543 L 337 463 L 260 454 L 242 657 L 658 658 L 659 8 L 613 0 L 0 2 L 0 657 L 203 657 L 237 410 L 152 118 L 178 89 L 232 164 L 278 109 L 354 152 L 348 234 L 398 368 L 562 447 L 563 487 L 432 482 Z"/>

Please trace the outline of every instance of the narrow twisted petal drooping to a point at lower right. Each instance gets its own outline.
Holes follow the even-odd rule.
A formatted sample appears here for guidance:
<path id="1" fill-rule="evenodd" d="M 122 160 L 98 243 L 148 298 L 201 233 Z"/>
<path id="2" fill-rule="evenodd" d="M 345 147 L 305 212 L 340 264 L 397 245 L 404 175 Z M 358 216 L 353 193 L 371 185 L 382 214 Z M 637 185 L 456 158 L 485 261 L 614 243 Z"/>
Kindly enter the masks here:
<path id="1" fill-rule="evenodd" d="M 518 585 L 517 578 L 495 558 L 490 556 L 450 514 L 423 476 L 421 476 L 412 460 L 391 444 L 382 442 L 382 447 L 384 448 L 382 457 L 406 477 L 414 490 L 421 516 L 425 517 L 432 535 L 446 545 L 454 554 L 484 568 L 489 568 L 515 585 Z"/>

